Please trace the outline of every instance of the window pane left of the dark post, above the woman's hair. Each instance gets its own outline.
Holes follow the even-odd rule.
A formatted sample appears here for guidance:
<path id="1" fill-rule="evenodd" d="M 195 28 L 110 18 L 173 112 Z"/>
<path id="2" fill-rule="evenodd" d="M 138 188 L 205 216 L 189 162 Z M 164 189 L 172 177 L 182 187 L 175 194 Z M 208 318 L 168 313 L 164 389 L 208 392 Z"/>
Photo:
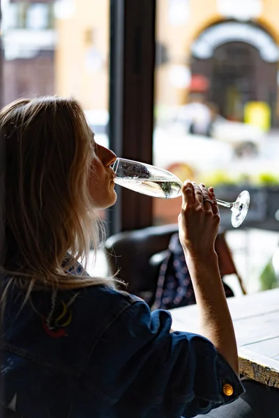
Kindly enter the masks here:
<path id="1" fill-rule="evenodd" d="M 1 104 L 73 95 L 107 146 L 110 1 L 5 1 L 2 13 Z"/>

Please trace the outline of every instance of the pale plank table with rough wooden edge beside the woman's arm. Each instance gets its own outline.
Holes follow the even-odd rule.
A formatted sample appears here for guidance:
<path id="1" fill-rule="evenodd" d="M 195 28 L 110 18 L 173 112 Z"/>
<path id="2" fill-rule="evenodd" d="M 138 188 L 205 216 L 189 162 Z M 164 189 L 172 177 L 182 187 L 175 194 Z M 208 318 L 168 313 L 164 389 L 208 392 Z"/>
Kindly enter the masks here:
<path id="1" fill-rule="evenodd" d="M 279 288 L 227 299 L 239 349 L 239 372 L 279 388 Z M 199 333 L 197 305 L 172 309 L 172 329 Z"/>

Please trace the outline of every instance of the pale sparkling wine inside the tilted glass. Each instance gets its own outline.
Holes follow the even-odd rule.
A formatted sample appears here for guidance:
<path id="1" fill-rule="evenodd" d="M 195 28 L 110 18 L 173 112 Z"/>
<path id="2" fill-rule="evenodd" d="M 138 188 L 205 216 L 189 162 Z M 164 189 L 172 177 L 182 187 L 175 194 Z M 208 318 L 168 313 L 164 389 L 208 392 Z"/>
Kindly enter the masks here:
<path id="1" fill-rule="evenodd" d="M 127 187 L 142 194 L 159 197 L 160 199 L 173 199 L 180 196 L 182 183 L 169 178 L 115 178 L 117 185 Z"/>

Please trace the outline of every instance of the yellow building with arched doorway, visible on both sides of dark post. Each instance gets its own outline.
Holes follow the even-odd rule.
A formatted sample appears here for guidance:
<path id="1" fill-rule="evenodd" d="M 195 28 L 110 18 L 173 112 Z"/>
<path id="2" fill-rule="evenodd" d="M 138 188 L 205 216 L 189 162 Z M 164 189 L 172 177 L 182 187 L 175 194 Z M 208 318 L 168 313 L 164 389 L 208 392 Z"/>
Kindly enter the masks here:
<path id="1" fill-rule="evenodd" d="M 109 1 L 58 3 L 67 7 L 57 21 L 56 91 L 106 108 Z M 247 102 L 265 102 L 275 124 L 278 13 L 278 0 L 158 1 L 157 105 L 183 104 L 198 91 L 232 120 L 243 120 Z"/>

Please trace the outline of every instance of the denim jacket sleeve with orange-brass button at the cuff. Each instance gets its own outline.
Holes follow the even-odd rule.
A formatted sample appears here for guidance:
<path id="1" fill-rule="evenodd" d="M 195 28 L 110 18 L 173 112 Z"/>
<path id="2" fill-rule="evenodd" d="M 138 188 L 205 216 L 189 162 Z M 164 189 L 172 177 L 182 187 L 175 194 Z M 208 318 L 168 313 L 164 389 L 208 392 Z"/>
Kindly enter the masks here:
<path id="1" fill-rule="evenodd" d="M 142 301 L 123 311 L 92 353 L 98 390 L 114 404 L 149 405 L 162 417 L 195 417 L 238 398 L 243 386 L 213 344 L 170 332 L 171 325 L 169 312 L 151 312 Z"/>

